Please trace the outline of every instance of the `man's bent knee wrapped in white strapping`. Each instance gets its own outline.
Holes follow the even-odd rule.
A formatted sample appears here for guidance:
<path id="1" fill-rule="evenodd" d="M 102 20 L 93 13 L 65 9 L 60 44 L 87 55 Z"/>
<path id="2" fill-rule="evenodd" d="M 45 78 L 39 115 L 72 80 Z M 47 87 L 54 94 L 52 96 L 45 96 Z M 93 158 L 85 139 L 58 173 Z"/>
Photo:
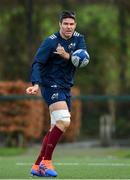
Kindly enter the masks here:
<path id="1" fill-rule="evenodd" d="M 51 113 L 53 119 L 55 119 L 55 124 L 58 127 L 63 128 L 65 130 L 70 125 L 70 112 L 65 110 L 56 110 Z"/>

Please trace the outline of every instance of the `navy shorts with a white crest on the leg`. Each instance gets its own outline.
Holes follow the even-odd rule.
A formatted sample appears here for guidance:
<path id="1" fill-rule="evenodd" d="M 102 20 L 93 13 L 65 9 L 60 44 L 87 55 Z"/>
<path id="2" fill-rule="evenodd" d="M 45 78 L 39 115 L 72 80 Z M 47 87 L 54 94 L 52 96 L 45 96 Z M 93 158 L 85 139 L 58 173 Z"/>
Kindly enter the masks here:
<path id="1" fill-rule="evenodd" d="M 41 87 L 41 94 L 48 106 L 58 101 L 66 101 L 68 109 L 71 109 L 71 92 L 69 89 Z"/>

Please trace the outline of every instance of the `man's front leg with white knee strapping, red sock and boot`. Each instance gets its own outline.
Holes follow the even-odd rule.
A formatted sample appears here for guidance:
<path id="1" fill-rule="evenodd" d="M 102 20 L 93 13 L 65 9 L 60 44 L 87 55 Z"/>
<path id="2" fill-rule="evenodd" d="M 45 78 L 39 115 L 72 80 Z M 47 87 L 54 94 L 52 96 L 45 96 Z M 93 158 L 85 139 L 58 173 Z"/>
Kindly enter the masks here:
<path id="1" fill-rule="evenodd" d="M 56 171 L 54 171 L 51 164 L 52 154 L 62 134 L 69 127 L 70 113 L 68 111 L 68 106 L 65 101 L 53 103 L 52 105 L 50 105 L 49 109 L 51 115 L 55 119 L 56 125 L 50 132 L 44 160 L 41 163 L 41 169 L 46 169 L 46 173 L 49 176 L 57 176 L 57 173 Z"/>

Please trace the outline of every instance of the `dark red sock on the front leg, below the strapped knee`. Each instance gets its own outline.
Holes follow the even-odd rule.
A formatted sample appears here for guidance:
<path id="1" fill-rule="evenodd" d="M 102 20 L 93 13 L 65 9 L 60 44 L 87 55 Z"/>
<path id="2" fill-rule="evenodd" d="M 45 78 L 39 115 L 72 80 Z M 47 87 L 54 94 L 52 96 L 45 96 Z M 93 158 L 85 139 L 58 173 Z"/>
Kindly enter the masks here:
<path id="1" fill-rule="evenodd" d="M 63 131 L 61 131 L 57 126 L 54 126 L 52 131 L 50 132 L 48 143 L 46 147 L 46 152 L 44 155 L 45 160 L 51 160 L 52 154 L 55 149 L 56 144 L 60 140 L 61 135 L 63 134 Z"/>

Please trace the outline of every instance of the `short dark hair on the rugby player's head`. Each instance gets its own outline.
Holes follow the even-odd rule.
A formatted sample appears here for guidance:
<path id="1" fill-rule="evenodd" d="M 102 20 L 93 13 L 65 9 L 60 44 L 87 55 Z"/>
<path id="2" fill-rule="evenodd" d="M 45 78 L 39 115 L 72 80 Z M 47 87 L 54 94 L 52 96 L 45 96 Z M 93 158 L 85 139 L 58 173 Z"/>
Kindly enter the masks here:
<path id="1" fill-rule="evenodd" d="M 59 21 L 62 22 L 65 18 L 72 18 L 76 20 L 76 14 L 73 11 L 65 10 L 60 14 Z"/>

